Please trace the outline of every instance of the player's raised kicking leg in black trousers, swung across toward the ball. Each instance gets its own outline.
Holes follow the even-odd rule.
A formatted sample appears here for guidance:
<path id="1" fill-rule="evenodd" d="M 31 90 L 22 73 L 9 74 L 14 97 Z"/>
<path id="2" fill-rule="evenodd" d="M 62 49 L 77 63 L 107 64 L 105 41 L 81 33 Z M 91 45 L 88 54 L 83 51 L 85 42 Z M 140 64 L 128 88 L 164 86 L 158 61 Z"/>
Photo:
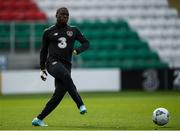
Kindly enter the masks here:
<path id="1" fill-rule="evenodd" d="M 72 99 L 75 101 L 77 107 L 80 109 L 80 113 L 81 114 L 86 113 L 87 111 L 84 106 L 84 103 L 79 93 L 77 92 L 77 89 L 71 78 L 70 69 L 65 67 L 62 63 L 58 62 L 55 65 L 49 67 L 48 71 L 53 77 L 62 80 L 62 82 L 64 83 L 64 86 L 66 86 L 68 93 L 70 94 Z"/>

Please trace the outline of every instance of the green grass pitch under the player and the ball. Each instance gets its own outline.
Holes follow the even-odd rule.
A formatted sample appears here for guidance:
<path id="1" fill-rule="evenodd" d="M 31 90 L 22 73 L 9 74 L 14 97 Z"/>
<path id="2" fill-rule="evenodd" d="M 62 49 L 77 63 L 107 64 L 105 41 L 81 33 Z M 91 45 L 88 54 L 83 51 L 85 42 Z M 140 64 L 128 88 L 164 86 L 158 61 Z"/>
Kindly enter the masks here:
<path id="1" fill-rule="evenodd" d="M 0 96 L 1 130 L 177 130 L 180 129 L 180 92 L 99 92 L 80 93 L 88 109 L 80 115 L 66 95 L 44 120 L 48 127 L 33 127 L 32 119 L 48 101 L 46 95 Z M 170 121 L 165 126 L 152 122 L 157 107 L 167 108 Z"/>

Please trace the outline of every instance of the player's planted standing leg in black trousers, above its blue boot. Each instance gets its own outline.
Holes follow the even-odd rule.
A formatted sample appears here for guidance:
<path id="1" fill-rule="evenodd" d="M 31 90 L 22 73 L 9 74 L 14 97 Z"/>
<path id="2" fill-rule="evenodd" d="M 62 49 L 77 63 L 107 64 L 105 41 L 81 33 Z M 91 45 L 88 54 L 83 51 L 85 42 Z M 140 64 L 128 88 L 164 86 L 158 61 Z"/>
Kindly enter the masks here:
<path id="1" fill-rule="evenodd" d="M 48 101 L 42 112 L 38 115 L 37 118 L 43 120 L 51 111 L 53 111 L 57 105 L 61 102 L 66 93 L 66 88 L 59 79 L 55 79 L 55 91 L 51 99 Z"/>

